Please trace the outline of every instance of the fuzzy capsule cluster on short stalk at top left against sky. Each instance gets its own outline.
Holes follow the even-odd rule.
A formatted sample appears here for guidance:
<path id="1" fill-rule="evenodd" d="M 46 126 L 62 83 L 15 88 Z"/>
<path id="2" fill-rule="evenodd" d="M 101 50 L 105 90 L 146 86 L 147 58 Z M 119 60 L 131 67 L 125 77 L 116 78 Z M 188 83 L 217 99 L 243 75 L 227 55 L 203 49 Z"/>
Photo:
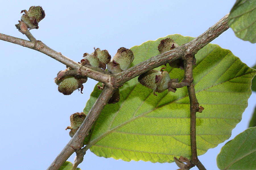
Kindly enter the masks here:
<path id="1" fill-rule="evenodd" d="M 25 13 L 21 16 L 19 24 L 16 24 L 16 28 L 21 32 L 25 33 L 28 29 L 38 29 L 38 23 L 44 19 L 45 12 L 40 6 L 32 6 L 29 10 L 22 10 L 21 13 Z"/>

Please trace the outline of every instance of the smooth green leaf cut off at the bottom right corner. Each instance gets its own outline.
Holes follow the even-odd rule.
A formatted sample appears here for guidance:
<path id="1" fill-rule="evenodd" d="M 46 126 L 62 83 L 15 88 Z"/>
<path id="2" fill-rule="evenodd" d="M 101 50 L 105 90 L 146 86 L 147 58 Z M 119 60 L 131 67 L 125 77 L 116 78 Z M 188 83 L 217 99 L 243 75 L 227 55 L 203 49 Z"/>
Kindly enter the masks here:
<path id="1" fill-rule="evenodd" d="M 256 169 L 256 128 L 249 128 L 228 141 L 217 156 L 218 168 Z"/>

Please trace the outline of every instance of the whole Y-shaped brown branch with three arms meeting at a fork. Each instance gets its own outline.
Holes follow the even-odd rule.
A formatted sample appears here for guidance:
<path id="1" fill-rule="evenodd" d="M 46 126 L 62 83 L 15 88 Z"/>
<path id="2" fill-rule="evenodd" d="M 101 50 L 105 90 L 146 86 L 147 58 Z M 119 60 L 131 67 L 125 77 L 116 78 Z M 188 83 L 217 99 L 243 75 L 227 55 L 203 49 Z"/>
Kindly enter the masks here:
<path id="1" fill-rule="evenodd" d="M 108 100 L 115 92 L 116 88 L 121 84 L 139 76 L 147 71 L 150 71 L 154 68 L 157 68 L 166 63 L 171 63 L 177 59 L 183 58 L 187 54 L 194 55 L 205 45 L 210 43 L 224 31 L 226 31 L 229 27 L 227 25 L 228 14 L 224 16 L 220 21 L 210 27 L 205 33 L 195 38 L 193 41 L 179 46 L 171 51 L 165 52 L 158 56 L 154 56 L 142 63 L 139 63 L 121 73 L 109 75 L 102 72 L 95 71 L 93 69 L 89 69 L 88 67 L 84 67 L 79 63 L 63 56 L 61 53 L 52 50 L 48 46 L 46 46 L 43 42 L 37 41 L 33 39 L 33 37 L 29 37 L 30 41 L 19 39 L 16 37 L 12 37 L 9 35 L 0 33 L 0 40 L 11 42 L 14 44 L 18 44 L 27 48 L 31 48 L 42 52 L 53 59 L 67 65 L 73 70 L 78 70 L 74 74 L 80 74 L 82 76 L 87 76 L 94 80 L 103 82 L 105 84 L 105 88 L 103 92 L 100 94 L 99 98 L 94 103 L 92 109 L 89 114 L 86 116 L 83 124 L 74 135 L 74 137 L 69 141 L 69 143 L 65 146 L 65 148 L 61 151 L 61 153 L 55 158 L 53 163 L 49 166 L 48 170 L 57 170 L 61 167 L 61 165 L 73 154 L 73 152 L 81 149 L 81 142 L 84 140 L 86 135 L 89 133 L 93 123 L 98 118 L 100 112 L 103 110 L 104 106 L 108 103 Z"/>

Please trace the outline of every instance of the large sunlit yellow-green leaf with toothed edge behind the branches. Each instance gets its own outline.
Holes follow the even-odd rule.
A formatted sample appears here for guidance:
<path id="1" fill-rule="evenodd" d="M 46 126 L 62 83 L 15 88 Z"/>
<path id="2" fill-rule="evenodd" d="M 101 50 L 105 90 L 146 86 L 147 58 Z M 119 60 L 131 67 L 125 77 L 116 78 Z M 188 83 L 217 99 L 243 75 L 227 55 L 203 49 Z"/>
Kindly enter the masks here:
<path id="1" fill-rule="evenodd" d="M 192 37 L 169 35 L 181 45 Z M 134 46 L 132 65 L 159 54 L 156 41 Z M 230 50 L 208 44 L 197 54 L 194 83 L 198 101 L 205 108 L 197 113 L 197 153 L 204 154 L 231 136 L 241 121 L 251 95 L 255 70 L 234 56 Z M 160 68 L 157 68 L 160 70 Z M 184 70 L 165 69 L 171 78 L 183 79 Z M 101 84 L 100 84 L 101 85 Z M 174 156 L 191 156 L 190 111 L 187 88 L 176 93 L 166 90 L 154 96 L 153 90 L 134 78 L 120 88 L 121 99 L 106 105 L 85 139 L 97 156 L 124 161 L 174 162 Z M 89 112 L 101 91 L 95 86 L 84 112 Z"/>

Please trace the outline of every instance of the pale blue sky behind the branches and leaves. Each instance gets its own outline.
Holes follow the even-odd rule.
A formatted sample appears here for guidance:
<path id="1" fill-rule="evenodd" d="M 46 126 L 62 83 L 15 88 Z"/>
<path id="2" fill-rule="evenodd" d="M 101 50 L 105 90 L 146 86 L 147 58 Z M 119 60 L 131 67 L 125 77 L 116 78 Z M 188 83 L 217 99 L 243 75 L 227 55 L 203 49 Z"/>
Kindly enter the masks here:
<path id="1" fill-rule="evenodd" d="M 215 1 L 2 1 L 0 33 L 27 39 L 15 27 L 21 10 L 40 5 L 46 18 L 31 30 L 38 40 L 63 55 L 80 61 L 93 47 L 114 56 L 120 47 L 131 48 L 170 34 L 197 37 L 225 16 L 235 0 Z M 255 44 L 237 38 L 232 29 L 212 41 L 231 50 L 249 67 L 255 65 Z M 31 49 L 0 41 L 1 56 L 1 169 L 47 169 L 71 139 L 65 128 L 69 116 L 81 112 L 96 82 L 88 80 L 84 94 L 64 96 L 54 77 L 65 65 Z M 256 94 L 233 139 L 244 131 L 255 107 Z M 199 156 L 207 169 L 218 169 L 216 156 L 224 143 Z M 73 154 L 69 161 L 73 162 Z M 90 151 L 82 170 L 178 169 L 175 163 L 124 162 L 97 157 Z M 196 169 L 196 168 L 194 168 Z"/>

